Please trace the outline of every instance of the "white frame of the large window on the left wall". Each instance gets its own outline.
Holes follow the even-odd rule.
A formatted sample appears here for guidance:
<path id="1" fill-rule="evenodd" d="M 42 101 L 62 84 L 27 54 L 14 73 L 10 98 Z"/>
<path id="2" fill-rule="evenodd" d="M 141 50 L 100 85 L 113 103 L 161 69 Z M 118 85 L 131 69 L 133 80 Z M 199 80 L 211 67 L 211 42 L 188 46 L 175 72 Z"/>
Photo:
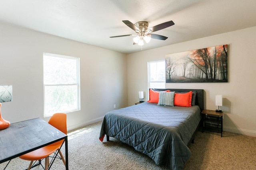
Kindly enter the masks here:
<path id="1" fill-rule="evenodd" d="M 72 59 L 76 61 L 76 83 L 64 83 L 64 84 L 45 84 L 44 83 L 44 77 L 45 77 L 45 73 L 44 73 L 44 66 L 43 66 L 43 84 L 44 84 L 44 117 L 49 117 L 52 116 L 54 113 L 51 114 L 46 114 L 46 92 L 45 92 L 45 88 L 46 86 L 74 86 L 76 85 L 76 100 L 77 100 L 77 106 L 74 109 L 71 110 L 62 110 L 59 112 L 62 113 L 69 113 L 69 112 L 73 112 L 73 111 L 78 111 L 80 110 L 80 59 L 78 57 L 71 57 L 71 56 L 66 56 L 66 55 L 58 55 L 58 54 L 52 54 L 52 53 L 43 53 L 43 63 L 44 63 L 44 56 L 49 56 L 49 57 L 59 57 L 62 59 Z"/>

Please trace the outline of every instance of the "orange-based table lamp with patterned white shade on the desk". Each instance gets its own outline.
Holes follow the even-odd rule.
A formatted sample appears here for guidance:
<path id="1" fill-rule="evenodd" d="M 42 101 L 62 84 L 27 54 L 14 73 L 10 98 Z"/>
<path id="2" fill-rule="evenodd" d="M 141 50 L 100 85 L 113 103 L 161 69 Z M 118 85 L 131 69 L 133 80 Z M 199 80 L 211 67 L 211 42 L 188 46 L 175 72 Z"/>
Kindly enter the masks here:
<path id="1" fill-rule="evenodd" d="M 1 115 L 1 103 L 12 101 L 12 85 L 0 85 L 0 130 L 10 126 L 10 122 L 4 120 Z"/>

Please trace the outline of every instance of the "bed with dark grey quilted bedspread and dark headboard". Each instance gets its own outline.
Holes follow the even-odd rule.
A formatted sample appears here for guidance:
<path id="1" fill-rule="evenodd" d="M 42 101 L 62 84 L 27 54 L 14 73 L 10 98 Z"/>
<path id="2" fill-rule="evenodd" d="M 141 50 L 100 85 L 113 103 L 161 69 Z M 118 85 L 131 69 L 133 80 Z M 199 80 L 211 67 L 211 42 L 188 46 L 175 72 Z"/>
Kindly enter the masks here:
<path id="1" fill-rule="evenodd" d="M 159 92 L 159 97 L 171 94 L 163 92 L 166 90 L 176 94 L 193 92 L 193 99 L 190 100 L 192 106 L 172 107 L 143 102 L 110 111 L 102 121 L 100 141 L 103 141 L 105 135 L 107 141 L 109 137 L 114 137 L 148 155 L 158 166 L 164 165 L 171 170 L 182 170 L 191 155 L 188 144 L 193 143 L 194 135 L 202 120 L 200 113 L 204 109 L 204 90 L 150 90 L 150 92 L 152 90 Z M 178 95 L 175 98 L 178 99 Z"/>

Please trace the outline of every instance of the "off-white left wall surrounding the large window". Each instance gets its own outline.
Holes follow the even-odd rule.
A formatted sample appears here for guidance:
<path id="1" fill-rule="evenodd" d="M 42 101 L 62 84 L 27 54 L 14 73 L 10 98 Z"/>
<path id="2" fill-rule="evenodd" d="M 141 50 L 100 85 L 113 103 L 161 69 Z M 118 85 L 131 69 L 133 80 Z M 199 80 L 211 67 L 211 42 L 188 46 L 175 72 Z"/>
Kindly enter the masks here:
<path id="1" fill-rule="evenodd" d="M 0 84 L 12 84 L 13 101 L 2 103 L 11 123 L 44 118 L 43 53 L 80 58 L 81 110 L 67 113 L 68 130 L 100 121 L 127 106 L 126 55 L 0 23 Z"/>

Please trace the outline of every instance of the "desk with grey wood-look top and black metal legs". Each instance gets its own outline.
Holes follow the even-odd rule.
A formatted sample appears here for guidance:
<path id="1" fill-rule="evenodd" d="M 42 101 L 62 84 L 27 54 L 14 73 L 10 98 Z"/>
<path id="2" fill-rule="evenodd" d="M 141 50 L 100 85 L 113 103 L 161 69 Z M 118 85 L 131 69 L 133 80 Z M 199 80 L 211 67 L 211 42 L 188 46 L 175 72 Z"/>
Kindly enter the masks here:
<path id="1" fill-rule="evenodd" d="M 36 118 L 11 123 L 0 130 L 0 164 L 64 139 L 68 170 L 68 136 L 46 121 Z"/>

